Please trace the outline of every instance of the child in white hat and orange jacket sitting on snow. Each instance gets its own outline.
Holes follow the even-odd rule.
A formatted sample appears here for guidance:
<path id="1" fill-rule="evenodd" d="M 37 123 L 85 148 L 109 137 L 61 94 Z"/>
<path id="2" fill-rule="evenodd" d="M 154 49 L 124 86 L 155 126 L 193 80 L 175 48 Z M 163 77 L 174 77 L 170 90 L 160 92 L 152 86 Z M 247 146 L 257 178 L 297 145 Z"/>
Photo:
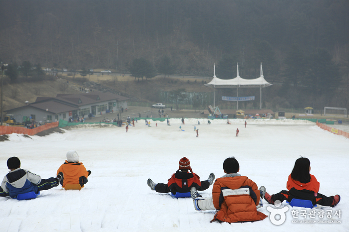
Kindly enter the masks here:
<path id="1" fill-rule="evenodd" d="M 60 165 L 57 173 L 62 172 L 64 179 L 60 185 L 64 188 L 66 184 L 80 184 L 83 187 L 87 183 L 87 177 L 91 171 L 86 171 L 85 166 L 80 162 L 80 157 L 75 150 L 69 150 L 66 153 L 65 162 Z"/>

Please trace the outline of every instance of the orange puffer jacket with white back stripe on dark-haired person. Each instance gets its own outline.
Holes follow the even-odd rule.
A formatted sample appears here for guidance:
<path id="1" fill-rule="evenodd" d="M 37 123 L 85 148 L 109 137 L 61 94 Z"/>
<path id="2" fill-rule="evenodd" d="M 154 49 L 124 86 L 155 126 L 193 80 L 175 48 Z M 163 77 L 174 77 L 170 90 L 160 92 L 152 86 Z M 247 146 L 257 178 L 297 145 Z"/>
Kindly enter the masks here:
<path id="1" fill-rule="evenodd" d="M 249 194 L 248 194 L 249 192 Z M 213 205 L 219 210 L 212 221 L 251 222 L 267 216 L 257 211 L 260 191 L 255 182 L 240 174 L 226 174 L 213 184 Z"/>

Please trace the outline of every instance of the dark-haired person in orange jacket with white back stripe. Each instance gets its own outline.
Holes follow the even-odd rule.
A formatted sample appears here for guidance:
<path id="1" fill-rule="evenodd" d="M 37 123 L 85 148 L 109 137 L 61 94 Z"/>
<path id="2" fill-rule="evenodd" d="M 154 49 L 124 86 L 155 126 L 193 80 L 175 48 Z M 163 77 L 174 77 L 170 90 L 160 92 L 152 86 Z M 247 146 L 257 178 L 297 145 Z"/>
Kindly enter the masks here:
<path id="1" fill-rule="evenodd" d="M 267 216 L 257 211 L 261 192 L 255 182 L 238 174 L 239 162 L 234 157 L 227 158 L 223 162 L 223 170 L 226 174 L 216 179 L 212 197 L 198 196 L 196 188 L 191 188 L 195 210 L 218 210 L 211 222 L 235 223 L 265 219 Z"/>

